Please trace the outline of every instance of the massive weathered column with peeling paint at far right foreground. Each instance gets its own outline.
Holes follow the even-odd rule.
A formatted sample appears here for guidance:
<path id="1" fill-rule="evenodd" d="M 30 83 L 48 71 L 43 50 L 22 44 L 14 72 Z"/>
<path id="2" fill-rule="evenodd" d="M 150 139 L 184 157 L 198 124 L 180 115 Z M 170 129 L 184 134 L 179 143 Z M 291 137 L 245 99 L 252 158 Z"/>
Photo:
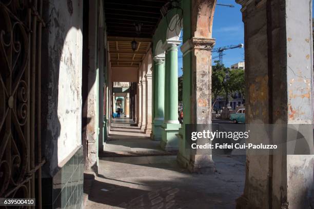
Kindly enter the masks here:
<path id="1" fill-rule="evenodd" d="M 245 25 L 246 123 L 261 128 L 311 124 L 311 1 L 237 2 Z M 312 151 L 312 133 L 307 142 Z M 247 152 L 245 189 L 237 208 L 309 208 L 313 164 L 313 155 Z"/>

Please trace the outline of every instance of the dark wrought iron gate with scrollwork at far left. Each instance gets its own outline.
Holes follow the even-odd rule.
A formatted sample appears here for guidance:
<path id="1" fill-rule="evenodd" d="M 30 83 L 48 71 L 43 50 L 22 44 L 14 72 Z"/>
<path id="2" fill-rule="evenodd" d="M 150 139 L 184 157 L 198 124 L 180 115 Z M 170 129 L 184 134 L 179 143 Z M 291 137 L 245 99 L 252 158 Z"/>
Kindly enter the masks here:
<path id="1" fill-rule="evenodd" d="M 0 197 L 41 208 L 42 0 L 0 0 Z"/>

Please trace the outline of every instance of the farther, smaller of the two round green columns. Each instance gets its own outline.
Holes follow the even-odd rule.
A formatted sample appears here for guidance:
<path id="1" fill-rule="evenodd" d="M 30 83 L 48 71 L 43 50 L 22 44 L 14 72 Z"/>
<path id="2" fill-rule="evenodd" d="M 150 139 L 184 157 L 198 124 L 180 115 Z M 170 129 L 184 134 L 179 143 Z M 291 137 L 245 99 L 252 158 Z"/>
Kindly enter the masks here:
<path id="1" fill-rule="evenodd" d="M 155 57 L 154 66 L 155 66 L 155 69 L 154 69 L 155 118 L 153 120 L 152 139 L 161 140 L 162 138 L 161 126 L 164 121 L 164 112 L 165 112 L 165 57 Z"/>

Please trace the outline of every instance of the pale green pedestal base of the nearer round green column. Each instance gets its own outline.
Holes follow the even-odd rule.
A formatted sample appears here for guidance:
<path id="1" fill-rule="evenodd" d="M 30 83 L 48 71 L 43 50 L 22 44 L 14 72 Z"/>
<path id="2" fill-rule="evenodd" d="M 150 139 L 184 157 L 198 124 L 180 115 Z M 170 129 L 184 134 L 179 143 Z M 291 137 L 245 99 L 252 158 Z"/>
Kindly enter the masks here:
<path id="1" fill-rule="evenodd" d="M 176 134 L 179 133 L 180 123 L 163 123 L 162 140 L 160 146 L 165 151 L 178 151 L 179 150 L 179 139 Z"/>

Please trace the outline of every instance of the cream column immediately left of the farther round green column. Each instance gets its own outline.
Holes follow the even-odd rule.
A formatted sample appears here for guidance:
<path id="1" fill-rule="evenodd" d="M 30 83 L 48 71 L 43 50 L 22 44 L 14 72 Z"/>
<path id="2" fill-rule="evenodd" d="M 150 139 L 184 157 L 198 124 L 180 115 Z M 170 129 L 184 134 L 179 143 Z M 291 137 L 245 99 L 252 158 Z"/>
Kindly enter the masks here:
<path id="1" fill-rule="evenodd" d="M 145 133 L 151 134 L 151 105 L 152 105 L 152 75 L 151 70 L 145 75 L 146 79 L 146 127 Z"/>

